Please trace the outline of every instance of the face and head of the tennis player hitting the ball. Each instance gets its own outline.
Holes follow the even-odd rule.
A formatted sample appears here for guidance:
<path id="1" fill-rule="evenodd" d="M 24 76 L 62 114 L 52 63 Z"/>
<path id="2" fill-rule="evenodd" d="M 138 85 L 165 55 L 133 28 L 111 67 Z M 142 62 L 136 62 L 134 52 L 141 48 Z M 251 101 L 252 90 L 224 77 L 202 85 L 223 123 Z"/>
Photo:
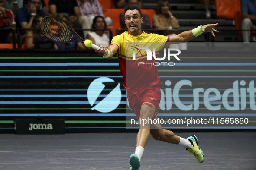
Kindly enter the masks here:
<path id="1" fill-rule="evenodd" d="M 140 16 L 138 10 L 128 10 L 124 14 L 125 25 L 131 35 L 141 34 L 141 24 L 143 23 L 143 18 Z"/>

